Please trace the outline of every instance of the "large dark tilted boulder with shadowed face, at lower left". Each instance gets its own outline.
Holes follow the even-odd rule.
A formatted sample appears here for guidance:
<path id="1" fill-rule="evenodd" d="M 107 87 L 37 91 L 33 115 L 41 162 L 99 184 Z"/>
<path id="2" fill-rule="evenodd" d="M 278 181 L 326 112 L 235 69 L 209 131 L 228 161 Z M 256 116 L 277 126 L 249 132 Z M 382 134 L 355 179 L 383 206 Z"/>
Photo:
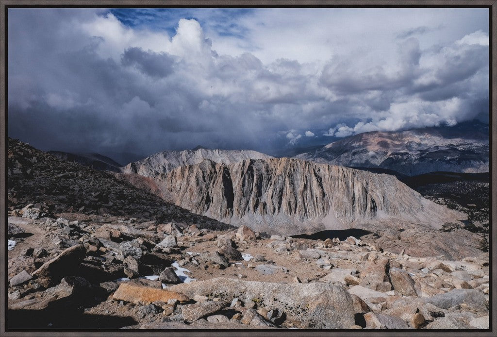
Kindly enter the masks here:
<path id="1" fill-rule="evenodd" d="M 77 273 L 85 256 L 86 249 L 83 245 L 69 247 L 56 257 L 43 263 L 33 272 L 33 276 L 37 277 L 38 283 L 44 287 L 57 284 L 64 276 Z"/>

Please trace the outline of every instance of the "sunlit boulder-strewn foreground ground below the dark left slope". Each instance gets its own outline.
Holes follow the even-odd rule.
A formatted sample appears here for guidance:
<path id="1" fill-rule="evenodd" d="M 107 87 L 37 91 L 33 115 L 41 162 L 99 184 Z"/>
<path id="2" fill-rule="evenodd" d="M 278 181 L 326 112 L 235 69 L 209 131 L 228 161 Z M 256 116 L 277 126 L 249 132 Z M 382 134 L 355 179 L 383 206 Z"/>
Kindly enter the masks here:
<path id="1" fill-rule="evenodd" d="M 9 328 L 489 327 L 488 253 L 37 212 L 9 217 Z"/>

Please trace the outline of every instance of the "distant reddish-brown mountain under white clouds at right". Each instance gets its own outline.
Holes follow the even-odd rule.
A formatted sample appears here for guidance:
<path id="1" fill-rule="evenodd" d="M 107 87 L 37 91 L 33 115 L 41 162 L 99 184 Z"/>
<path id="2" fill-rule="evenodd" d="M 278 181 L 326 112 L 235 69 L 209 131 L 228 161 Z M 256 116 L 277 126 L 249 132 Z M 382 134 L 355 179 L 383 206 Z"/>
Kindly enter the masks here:
<path id="1" fill-rule="evenodd" d="M 478 121 L 400 132 L 365 132 L 295 156 L 316 163 L 390 169 L 488 172 L 489 126 Z"/>

